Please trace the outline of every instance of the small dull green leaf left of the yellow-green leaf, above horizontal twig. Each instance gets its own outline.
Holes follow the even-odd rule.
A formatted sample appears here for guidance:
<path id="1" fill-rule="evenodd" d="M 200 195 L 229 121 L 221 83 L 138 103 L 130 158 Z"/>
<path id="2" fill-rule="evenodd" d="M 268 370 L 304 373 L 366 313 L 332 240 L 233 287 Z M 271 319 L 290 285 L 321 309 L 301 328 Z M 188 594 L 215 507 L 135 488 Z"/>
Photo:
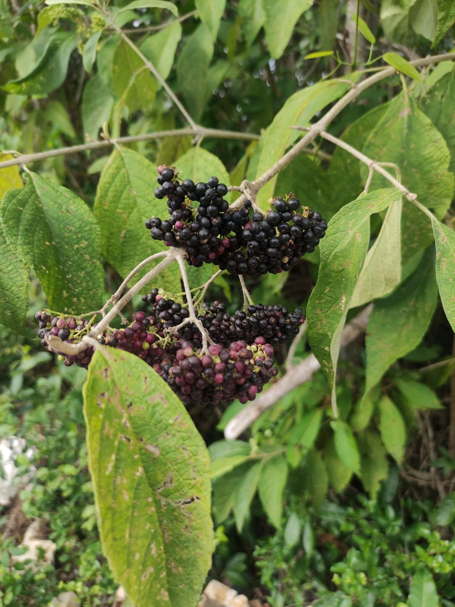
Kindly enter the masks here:
<path id="1" fill-rule="evenodd" d="M 82 96 L 82 121 L 84 135 L 96 141 L 99 129 L 109 121 L 114 100 L 101 76 L 92 76 L 84 87 Z"/>

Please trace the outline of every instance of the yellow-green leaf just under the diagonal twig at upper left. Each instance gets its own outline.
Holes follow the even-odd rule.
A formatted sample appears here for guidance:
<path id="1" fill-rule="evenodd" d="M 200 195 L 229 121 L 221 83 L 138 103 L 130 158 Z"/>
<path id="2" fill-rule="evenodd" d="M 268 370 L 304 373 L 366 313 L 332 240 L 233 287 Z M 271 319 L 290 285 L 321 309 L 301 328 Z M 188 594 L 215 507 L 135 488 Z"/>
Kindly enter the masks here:
<path id="1" fill-rule="evenodd" d="M 118 98 L 124 97 L 130 112 L 146 112 L 153 106 L 157 86 L 143 60 L 124 40 L 115 51 L 112 67 L 112 83 Z"/>

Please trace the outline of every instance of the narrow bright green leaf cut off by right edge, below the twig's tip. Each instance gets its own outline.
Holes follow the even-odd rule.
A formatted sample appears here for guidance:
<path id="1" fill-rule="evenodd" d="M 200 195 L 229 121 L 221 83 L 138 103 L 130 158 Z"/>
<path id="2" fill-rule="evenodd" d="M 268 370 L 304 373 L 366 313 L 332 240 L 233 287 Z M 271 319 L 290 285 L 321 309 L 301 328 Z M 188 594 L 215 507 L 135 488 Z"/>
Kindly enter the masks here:
<path id="1" fill-rule="evenodd" d="M 447 320 L 455 331 L 455 232 L 432 220 L 436 244 L 436 280 Z"/>

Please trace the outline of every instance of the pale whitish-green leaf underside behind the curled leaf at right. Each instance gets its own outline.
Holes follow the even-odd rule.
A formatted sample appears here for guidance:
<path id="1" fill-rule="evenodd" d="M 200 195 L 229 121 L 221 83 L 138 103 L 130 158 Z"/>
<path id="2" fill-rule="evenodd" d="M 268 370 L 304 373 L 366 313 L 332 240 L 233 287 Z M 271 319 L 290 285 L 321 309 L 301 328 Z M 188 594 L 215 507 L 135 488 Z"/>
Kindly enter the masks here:
<path id="1" fill-rule="evenodd" d="M 366 254 L 350 308 L 388 295 L 400 283 L 402 206 L 401 198 L 389 206 L 379 236 Z"/>

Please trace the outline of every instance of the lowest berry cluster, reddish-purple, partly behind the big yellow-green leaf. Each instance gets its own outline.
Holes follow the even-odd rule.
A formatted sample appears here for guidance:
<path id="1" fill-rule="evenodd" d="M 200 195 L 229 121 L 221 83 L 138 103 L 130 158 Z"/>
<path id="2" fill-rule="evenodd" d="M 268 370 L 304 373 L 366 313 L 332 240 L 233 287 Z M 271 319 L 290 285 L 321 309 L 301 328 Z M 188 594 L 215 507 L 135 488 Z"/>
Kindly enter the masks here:
<path id="1" fill-rule="evenodd" d="M 42 346 L 60 354 L 67 367 L 73 364 L 89 367 L 92 347 L 78 354 L 62 354 L 47 344 L 46 337 L 55 335 L 64 342 L 75 344 L 96 324 L 90 325 L 84 319 L 52 316 L 46 311 L 37 312 L 35 319 L 39 323 L 38 337 Z M 98 342 L 143 359 L 184 403 L 218 404 L 236 398 L 241 402 L 254 400 L 263 385 L 278 373 L 272 358 L 274 348 L 266 344 L 263 337 L 257 337 L 252 345 L 244 341 L 211 345 L 209 354 L 202 354 L 201 348 L 195 347 L 194 339 L 187 341 L 181 336 L 165 336 L 160 320 L 154 315 L 146 316 L 143 311 L 134 314 L 128 327 L 105 331 L 98 337 Z"/>

